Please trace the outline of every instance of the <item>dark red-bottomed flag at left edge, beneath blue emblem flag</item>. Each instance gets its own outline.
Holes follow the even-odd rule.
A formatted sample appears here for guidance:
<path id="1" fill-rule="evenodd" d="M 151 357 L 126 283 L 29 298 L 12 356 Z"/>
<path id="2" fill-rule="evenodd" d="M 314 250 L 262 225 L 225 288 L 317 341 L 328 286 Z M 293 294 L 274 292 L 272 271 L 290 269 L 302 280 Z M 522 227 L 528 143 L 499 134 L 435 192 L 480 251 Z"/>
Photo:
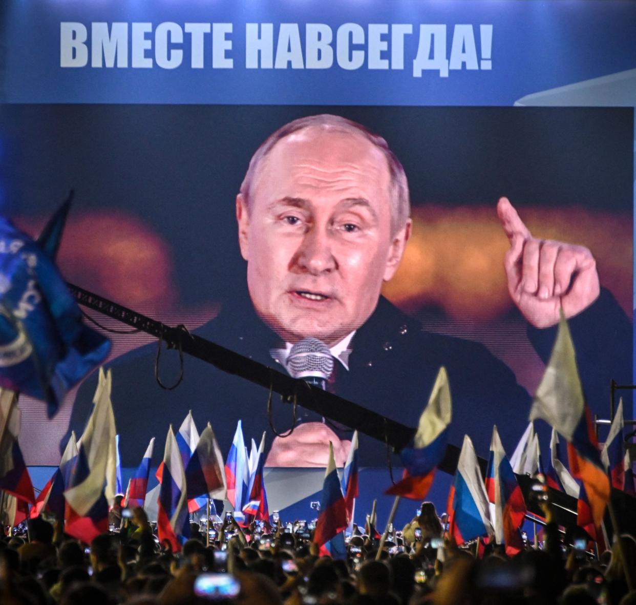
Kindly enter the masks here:
<path id="1" fill-rule="evenodd" d="M 17 393 L 0 389 L 0 490 L 33 504 L 36 497 L 18 443 L 21 418 Z"/>

